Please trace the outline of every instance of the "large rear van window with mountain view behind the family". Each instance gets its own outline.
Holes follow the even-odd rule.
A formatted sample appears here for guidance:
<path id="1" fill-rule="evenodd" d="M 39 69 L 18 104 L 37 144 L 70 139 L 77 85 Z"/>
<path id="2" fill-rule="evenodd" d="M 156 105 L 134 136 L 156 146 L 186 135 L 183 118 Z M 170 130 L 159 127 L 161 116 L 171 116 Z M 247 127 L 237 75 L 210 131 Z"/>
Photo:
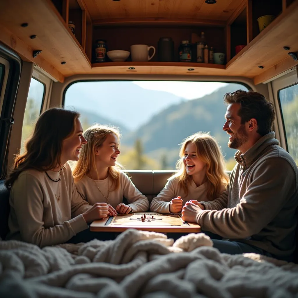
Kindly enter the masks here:
<path id="1" fill-rule="evenodd" d="M 248 89 L 237 83 L 188 81 L 76 82 L 65 93 L 64 107 L 81 114 L 85 130 L 94 123 L 119 127 L 125 169 L 173 170 L 179 144 L 198 131 L 210 131 L 235 165 L 222 130 L 226 113 L 224 94 Z"/>

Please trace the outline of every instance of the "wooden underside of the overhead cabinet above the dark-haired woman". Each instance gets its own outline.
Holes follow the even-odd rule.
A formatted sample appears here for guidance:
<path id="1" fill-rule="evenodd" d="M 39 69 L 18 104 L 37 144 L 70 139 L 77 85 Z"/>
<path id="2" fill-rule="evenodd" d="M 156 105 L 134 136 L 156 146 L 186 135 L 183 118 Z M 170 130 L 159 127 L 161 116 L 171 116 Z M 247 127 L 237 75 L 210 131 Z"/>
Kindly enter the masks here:
<path id="1" fill-rule="evenodd" d="M 28 23 L 28 26 L 21 27 L 22 23 Z M 30 0 L 30 5 L 22 0 L 7 1 L 1 11 L 0 25 L 9 28 L 5 35 L 0 30 L 0 40 L 4 44 L 58 81 L 91 69 L 83 47 L 50 0 Z M 36 38 L 30 39 L 31 35 Z M 33 50 L 42 52 L 33 58 Z M 63 61 L 66 64 L 62 65 Z"/>

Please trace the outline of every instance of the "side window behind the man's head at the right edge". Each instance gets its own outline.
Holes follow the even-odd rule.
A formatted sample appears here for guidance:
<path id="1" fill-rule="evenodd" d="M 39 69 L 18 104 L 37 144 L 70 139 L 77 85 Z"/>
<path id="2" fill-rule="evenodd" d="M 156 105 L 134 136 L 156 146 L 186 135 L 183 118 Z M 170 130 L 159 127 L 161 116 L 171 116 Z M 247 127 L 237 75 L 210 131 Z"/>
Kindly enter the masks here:
<path id="1" fill-rule="evenodd" d="M 298 164 L 298 84 L 278 92 L 288 152 Z"/>

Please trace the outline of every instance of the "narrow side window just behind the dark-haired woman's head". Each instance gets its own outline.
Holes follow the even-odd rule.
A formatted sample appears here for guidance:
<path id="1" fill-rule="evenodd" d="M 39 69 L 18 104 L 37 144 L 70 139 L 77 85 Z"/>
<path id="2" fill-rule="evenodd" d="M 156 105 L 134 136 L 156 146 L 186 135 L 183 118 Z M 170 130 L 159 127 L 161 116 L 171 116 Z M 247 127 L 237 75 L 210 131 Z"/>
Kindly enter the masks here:
<path id="1" fill-rule="evenodd" d="M 44 94 L 44 84 L 32 77 L 29 87 L 22 128 L 21 153 L 25 152 L 26 140 L 31 136 L 38 116 L 41 113 Z"/>

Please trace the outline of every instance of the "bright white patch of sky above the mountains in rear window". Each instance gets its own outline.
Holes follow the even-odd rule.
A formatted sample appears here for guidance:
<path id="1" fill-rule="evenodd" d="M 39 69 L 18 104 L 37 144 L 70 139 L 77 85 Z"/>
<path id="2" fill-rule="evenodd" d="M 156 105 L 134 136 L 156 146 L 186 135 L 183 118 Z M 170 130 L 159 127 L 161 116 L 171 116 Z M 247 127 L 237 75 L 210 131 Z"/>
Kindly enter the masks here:
<path id="1" fill-rule="evenodd" d="M 134 81 L 134 84 L 151 90 L 173 93 L 185 99 L 194 99 L 210 94 L 216 89 L 226 86 L 226 83 L 215 82 L 184 82 L 184 81 Z"/>

